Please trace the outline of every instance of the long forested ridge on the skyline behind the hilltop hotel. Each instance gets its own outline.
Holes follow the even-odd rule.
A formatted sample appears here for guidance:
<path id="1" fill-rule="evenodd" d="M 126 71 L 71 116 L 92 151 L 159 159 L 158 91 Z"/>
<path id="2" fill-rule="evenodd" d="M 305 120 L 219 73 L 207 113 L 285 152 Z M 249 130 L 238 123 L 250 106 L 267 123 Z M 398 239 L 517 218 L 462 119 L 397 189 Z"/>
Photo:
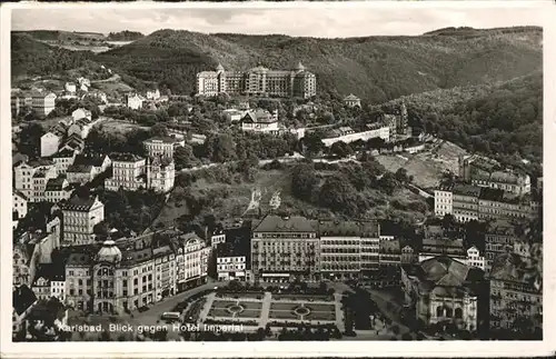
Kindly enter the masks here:
<path id="1" fill-rule="evenodd" d="M 373 103 L 435 89 L 509 80 L 542 69 L 542 29 L 449 31 L 419 37 L 348 39 L 203 34 L 160 30 L 98 54 L 102 63 L 175 92 L 191 92 L 196 73 L 219 62 L 315 72 L 320 93 L 356 93 Z"/>

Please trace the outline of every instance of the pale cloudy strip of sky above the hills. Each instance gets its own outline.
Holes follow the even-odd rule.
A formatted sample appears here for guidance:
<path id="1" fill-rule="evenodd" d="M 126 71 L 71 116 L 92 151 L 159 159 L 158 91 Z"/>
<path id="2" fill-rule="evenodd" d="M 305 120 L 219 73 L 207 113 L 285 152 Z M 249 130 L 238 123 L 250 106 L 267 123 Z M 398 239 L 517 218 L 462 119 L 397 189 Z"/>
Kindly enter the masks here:
<path id="1" fill-rule="evenodd" d="M 312 3 L 315 4 L 315 3 Z M 294 37 L 346 38 L 417 36 L 446 27 L 496 28 L 542 26 L 537 8 L 210 8 L 126 9 L 82 7 L 13 9 L 12 30 L 90 32 L 160 29 L 205 33 L 281 33 Z"/>

